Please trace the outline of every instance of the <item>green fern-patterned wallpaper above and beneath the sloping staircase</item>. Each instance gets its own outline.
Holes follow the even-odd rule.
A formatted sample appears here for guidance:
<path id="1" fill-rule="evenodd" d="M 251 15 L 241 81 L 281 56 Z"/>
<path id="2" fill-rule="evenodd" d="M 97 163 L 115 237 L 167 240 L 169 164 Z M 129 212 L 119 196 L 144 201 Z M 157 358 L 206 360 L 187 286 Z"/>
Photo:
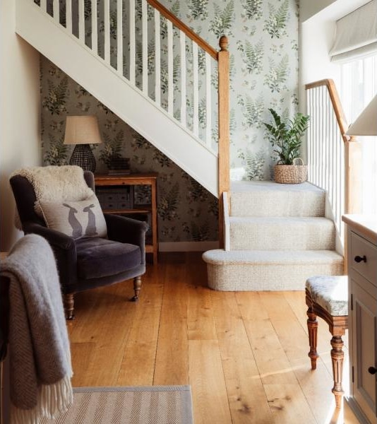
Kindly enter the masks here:
<path id="1" fill-rule="evenodd" d="M 268 108 L 290 115 L 298 105 L 298 0 L 163 0 L 176 16 L 231 53 L 232 179 L 270 179 L 272 155 L 263 122 Z M 46 165 L 71 157 L 64 146 L 67 114 L 95 114 L 104 143 L 95 146 L 97 171 L 109 156 L 131 158 L 133 172 L 159 172 L 160 242 L 217 240 L 217 199 L 50 61 L 41 59 L 42 155 Z M 139 190 L 137 196 L 148 196 Z"/>

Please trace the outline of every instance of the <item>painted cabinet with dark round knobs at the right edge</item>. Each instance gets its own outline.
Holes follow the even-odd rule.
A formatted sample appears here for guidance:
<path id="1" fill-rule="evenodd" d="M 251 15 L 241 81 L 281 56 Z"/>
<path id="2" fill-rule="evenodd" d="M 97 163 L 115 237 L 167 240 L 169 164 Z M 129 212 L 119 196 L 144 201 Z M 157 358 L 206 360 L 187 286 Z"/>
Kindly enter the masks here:
<path id="1" fill-rule="evenodd" d="M 348 402 L 361 423 L 377 423 L 377 218 L 347 215 Z"/>

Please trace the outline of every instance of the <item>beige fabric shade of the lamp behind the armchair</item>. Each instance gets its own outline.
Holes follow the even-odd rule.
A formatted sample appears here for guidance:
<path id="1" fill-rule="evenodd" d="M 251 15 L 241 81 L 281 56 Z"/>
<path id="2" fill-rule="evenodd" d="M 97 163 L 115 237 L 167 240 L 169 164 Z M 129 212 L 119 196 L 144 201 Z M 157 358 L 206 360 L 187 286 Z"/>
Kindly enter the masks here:
<path id="1" fill-rule="evenodd" d="M 97 117 L 84 115 L 67 117 L 64 144 L 98 144 L 102 143 Z"/>

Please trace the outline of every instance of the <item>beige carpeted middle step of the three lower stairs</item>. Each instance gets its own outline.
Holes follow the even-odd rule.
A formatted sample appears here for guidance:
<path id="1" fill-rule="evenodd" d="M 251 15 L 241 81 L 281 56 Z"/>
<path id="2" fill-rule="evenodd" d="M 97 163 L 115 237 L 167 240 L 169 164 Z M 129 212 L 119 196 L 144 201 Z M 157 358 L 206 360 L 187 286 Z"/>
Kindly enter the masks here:
<path id="1" fill-rule="evenodd" d="M 327 218 L 229 217 L 232 250 L 333 250 L 335 225 Z"/>

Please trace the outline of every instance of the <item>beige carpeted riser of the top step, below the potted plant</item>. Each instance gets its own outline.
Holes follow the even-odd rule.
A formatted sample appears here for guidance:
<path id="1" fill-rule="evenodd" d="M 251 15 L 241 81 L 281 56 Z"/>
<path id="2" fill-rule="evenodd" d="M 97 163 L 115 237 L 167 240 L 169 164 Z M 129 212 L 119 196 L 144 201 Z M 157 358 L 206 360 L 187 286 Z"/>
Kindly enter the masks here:
<path id="1" fill-rule="evenodd" d="M 232 192 L 230 216 L 325 216 L 325 193 Z"/>

